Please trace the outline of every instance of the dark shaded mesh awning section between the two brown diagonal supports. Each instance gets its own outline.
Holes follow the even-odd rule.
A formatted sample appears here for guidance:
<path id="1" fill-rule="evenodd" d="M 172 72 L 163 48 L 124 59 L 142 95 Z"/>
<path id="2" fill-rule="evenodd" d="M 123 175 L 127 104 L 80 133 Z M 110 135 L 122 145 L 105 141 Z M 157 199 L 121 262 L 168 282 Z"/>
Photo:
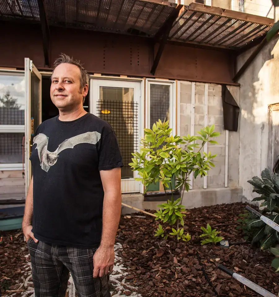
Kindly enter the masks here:
<path id="1" fill-rule="evenodd" d="M 156 34 L 174 9 L 140 0 L 70 0 L 65 6 L 62 3 L 44 1 L 50 25 L 109 32 L 135 29 L 148 36 Z"/>

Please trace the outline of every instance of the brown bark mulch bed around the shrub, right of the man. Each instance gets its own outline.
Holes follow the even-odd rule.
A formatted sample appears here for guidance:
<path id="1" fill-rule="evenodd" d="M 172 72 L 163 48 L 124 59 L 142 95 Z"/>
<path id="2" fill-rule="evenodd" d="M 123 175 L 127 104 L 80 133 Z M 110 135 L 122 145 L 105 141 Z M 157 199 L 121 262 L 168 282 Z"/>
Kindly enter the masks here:
<path id="1" fill-rule="evenodd" d="M 117 241 L 123 245 L 122 264 L 129 269 L 126 283 L 130 282 L 143 297 L 259 296 L 219 270 L 217 265 L 220 263 L 277 295 L 279 279 L 271 267 L 273 256 L 250 244 L 239 244 L 244 242 L 243 235 L 235 229 L 239 223 L 232 223 L 236 223 L 237 215 L 243 213 L 245 205 L 234 203 L 190 209 L 184 217 L 184 229 L 192 235 L 188 243 L 154 237 L 159 221 L 151 216 L 122 217 Z M 207 223 L 212 227 L 219 225 L 214 228 L 221 231 L 220 235 L 231 244 L 237 244 L 229 248 L 213 244 L 201 246 L 201 226 L 206 227 Z"/>

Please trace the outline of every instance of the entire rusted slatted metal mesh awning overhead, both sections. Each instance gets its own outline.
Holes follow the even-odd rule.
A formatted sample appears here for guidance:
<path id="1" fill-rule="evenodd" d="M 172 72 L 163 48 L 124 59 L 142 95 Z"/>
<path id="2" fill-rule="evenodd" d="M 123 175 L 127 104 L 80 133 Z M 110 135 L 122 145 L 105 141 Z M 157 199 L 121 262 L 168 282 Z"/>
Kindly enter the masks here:
<path id="1" fill-rule="evenodd" d="M 176 6 L 166 0 L 3 0 L 0 19 L 155 37 Z M 180 10 L 166 40 L 241 49 L 272 25 L 273 19 L 192 3 Z"/>

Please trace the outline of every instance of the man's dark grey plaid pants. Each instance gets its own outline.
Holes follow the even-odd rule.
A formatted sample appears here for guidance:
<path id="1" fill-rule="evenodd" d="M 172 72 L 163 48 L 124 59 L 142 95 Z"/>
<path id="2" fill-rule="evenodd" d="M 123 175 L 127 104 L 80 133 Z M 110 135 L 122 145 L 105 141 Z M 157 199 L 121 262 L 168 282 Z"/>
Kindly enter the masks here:
<path id="1" fill-rule="evenodd" d="M 111 297 L 109 275 L 93 278 L 96 249 L 27 241 L 36 297 L 65 297 L 71 272 L 79 297 Z"/>

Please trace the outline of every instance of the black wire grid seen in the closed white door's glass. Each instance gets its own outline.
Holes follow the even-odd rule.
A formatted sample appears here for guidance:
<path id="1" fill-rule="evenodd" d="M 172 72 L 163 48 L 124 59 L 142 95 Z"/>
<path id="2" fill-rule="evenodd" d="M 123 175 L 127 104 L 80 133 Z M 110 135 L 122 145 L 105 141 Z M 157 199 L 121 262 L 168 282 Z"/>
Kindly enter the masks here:
<path id="1" fill-rule="evenodd" d="M 98 116 L 107 121 L 117 136 L 122 154 L 122 178 L 133 177 L 128 165 L 132 155 L 138 148 L 138 103 L 131 101 L 102 100 L 97 102 Z"/>

